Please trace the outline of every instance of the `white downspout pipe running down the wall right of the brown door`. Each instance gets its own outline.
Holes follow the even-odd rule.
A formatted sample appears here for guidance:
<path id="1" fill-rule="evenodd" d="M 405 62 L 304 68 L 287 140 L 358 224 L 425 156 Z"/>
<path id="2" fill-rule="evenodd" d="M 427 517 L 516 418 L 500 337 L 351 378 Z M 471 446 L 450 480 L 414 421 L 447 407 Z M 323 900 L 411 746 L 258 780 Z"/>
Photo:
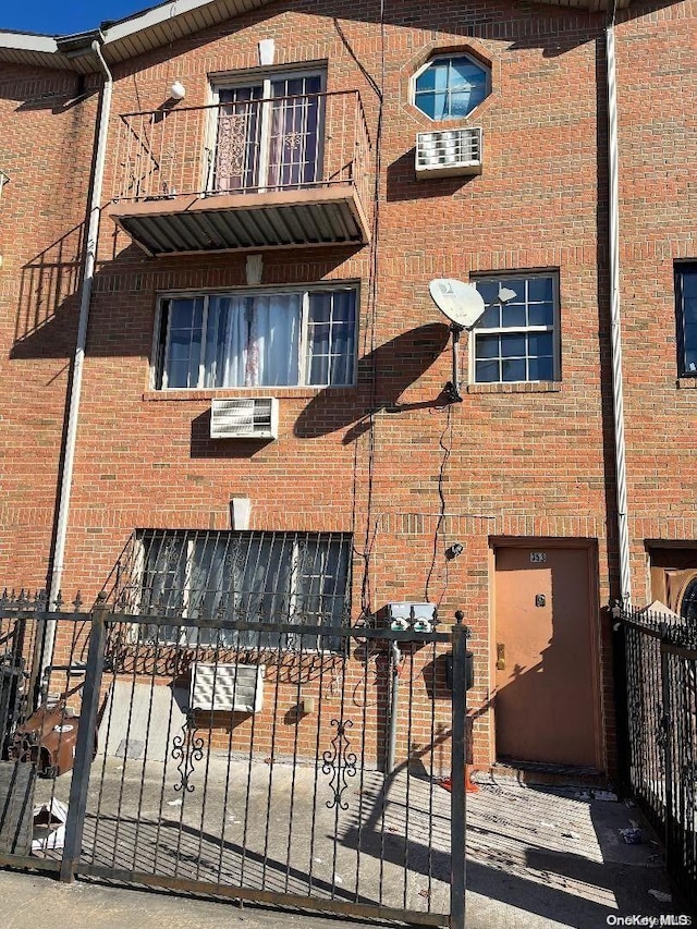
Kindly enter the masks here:
<path id="1" fill-rule="evenodd" d="M 624 394 L 622 386 L 622 330 L 620 315 L 620 184 L 617 149 L 617 85 L 614 54 L 614 11 L 606 29 L 608 82 L 608 170 L 610 197 L 610 340 L 612 346 L 612 411 L 614 417 L 614 460 L 617 488 L 617 546 L 620 557 L 620 596 L 632 599 L 629 572 L 629 529 L 627 516 L 627 476 L 624 441 Z"/>

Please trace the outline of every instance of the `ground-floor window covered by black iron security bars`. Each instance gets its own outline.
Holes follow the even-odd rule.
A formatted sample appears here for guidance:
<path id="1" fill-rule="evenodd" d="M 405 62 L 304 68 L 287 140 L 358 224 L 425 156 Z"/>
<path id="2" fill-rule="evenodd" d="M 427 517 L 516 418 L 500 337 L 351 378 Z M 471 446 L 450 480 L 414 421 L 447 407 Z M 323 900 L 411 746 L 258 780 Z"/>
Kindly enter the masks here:
<path id="1" fill-rule="evenodd" d="M 341 649 L 341 636 L 303 634 L 302 627 L 347 625 L 350 535 L 142 529 L 136 538 L 135 612 L 167 621 L 145 621 L 145 637 L 181 645 Z M 178 619 L 218 620 L 220 628 L 178 625 Z M 255 632 L 235 623 L 284 628 Z"/>

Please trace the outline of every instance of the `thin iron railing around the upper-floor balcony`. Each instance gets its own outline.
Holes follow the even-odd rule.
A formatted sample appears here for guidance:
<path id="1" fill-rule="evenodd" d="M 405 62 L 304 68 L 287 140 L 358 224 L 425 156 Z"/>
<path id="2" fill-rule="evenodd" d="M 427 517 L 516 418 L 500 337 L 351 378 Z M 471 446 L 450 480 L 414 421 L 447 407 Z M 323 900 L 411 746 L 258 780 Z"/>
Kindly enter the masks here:
<path id="1" fill-rule="evenodd" d="M 337 184 L 369 200 L 370 137 L 357 90 L 123 113 L 117 200 Z"/>

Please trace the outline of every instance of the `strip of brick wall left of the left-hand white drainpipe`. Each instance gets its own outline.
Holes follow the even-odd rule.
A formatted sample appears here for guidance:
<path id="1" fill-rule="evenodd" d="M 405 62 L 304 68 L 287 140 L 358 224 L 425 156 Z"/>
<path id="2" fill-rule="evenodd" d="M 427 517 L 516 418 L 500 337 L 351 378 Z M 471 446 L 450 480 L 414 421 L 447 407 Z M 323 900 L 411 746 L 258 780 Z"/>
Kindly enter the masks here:
<path id="1" fill-rule="evenodd" d="M 46 584 L 96 109 L 89 81 L 0 64 L 3 584 Z"/>

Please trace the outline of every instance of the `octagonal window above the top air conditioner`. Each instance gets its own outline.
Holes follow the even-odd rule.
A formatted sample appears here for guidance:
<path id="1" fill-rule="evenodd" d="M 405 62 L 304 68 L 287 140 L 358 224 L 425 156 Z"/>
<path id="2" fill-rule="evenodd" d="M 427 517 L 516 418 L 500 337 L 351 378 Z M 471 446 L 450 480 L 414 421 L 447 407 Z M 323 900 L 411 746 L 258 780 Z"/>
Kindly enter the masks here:
<path id="1" fill-rule="evenodd" d="M 467 54 L 433 58 L 414 81 L 414 103 L 431 120 L 466 117 L 489 93 L 489 70 Z"/>

